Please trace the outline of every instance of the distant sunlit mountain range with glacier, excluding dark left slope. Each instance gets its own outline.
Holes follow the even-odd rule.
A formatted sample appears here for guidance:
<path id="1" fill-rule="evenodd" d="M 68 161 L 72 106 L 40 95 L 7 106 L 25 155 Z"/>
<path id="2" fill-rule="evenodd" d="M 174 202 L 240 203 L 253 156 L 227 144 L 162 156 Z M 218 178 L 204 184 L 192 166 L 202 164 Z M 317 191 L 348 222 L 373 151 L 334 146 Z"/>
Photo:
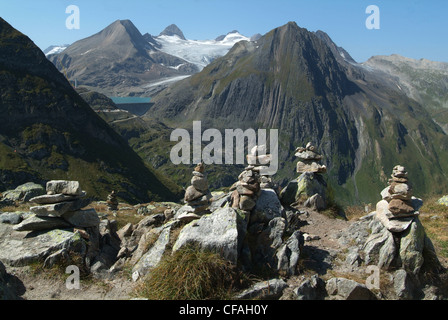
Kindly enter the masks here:
<path id="1" fill-rule="evenodd" d="M 210 40 L 216 52 L 228 42 L 226 49 L 198 60 L 204 52 L 192 48 L 200 41 L 167 29 L 142 35 L 117 20 L 48 59 L 77 79 L 84 102 L 108 106 L 97 115 L 178 185 L 188 184 L 191 168 L 170 163 L 170 133 L 201 120 L 203 130 L 278 129 L 280 185 L 296 176 L 294 151 L 310 141 L 338 201 L 377 201 L 396 164 L 410 172 L 417 196 L 448 191 L 448 64 L 397 55 L 358 63 L 325 32 L 295 22 L 251 39 L 230 32 Z M 150 93 L 154 105 L 142 117 L 115 112 L 101 93 Z M 240 171 L 210 167 L 211 187 L 229 186 Z"/>

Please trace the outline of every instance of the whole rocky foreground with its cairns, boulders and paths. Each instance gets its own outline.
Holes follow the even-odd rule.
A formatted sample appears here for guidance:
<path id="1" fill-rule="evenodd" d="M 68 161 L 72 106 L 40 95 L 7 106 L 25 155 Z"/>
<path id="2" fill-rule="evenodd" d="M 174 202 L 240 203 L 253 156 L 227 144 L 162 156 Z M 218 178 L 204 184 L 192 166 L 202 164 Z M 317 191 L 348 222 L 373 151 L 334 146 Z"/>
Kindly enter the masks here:
<path id="1" fill-rule="evenodd" d="M 306 161 L 314 163 L 319 157 L 312 149 L 299 148 L 298 154 L 311 155 Z M 319 168 L 301 165 L 300 177 L 280 191 L 262 175 L 262 166 L 249 165 L 230 190 L 211 192 L 199 164 L 182 203 L 136 206 L 120 204 L 115 192 L 106 202 L 92 202 L 77 181 L 20 186 L 0 202 L 0 293 L 30 300 L 158 299 L 141 289 L 168 257 L 212 252 L 214 261 L 246 279 L 224 272 L 233 291 L 219 297 L 447 299 L 447 261 L 421 223 L 423 201 L 412 195 L 405 168 L 394 168 L 375 209 L 350 220 L 325 209 L 325 170 Z M 192 267 L 174 264 L 180 278 Z M 177 280 L 166 276 L 150 291 Z M 163 298 L 173 299 L 171 294 Z"/>

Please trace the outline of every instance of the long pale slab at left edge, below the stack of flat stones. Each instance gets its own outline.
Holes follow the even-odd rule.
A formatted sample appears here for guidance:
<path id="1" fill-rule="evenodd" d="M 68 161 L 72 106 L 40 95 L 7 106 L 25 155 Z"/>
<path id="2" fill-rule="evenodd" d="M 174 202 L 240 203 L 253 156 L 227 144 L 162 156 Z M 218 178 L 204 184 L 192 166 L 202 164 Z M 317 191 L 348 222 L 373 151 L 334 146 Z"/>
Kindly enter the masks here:
<path id="1" fill-rule="evenodd" d="M 0 240 L 0 260 L 11 266 L 25 266 L 63 248 L 85 254 L 86 245 L 79 234 L 66 230 L 33 232 L 22 239 Z"/>

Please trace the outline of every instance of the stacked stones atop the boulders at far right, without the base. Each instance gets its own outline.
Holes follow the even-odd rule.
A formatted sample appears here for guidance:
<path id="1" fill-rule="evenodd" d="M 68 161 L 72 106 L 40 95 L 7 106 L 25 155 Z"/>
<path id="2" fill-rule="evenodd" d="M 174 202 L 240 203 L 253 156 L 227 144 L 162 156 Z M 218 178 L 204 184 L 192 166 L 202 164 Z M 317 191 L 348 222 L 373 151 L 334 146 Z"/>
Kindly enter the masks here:
<path id="1" fill-rule="evenodd" d="M 402 232 L 419 215 L 423 201 L 412 196 L 406 169 L 397 165 L 393 168 L 389 186 L 381 192 L 382 201 L 376 205 L 377 217 L 389 231 Z"/>

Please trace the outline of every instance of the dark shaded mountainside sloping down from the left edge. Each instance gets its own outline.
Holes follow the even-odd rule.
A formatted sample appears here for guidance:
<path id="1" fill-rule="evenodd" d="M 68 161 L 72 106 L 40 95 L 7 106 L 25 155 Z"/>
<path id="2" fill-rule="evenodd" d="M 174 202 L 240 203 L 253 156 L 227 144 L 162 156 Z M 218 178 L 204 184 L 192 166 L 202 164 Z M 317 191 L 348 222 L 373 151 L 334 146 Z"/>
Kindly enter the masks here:
<path id="1" fill-rule="evenodd" d="M 95 197 L 116 188 L 129 201 L 175 198 L 173 184 L 162 182 L 33 42 L 2 19 L 0 47 L 0 189 L 70 177 Z"/>

